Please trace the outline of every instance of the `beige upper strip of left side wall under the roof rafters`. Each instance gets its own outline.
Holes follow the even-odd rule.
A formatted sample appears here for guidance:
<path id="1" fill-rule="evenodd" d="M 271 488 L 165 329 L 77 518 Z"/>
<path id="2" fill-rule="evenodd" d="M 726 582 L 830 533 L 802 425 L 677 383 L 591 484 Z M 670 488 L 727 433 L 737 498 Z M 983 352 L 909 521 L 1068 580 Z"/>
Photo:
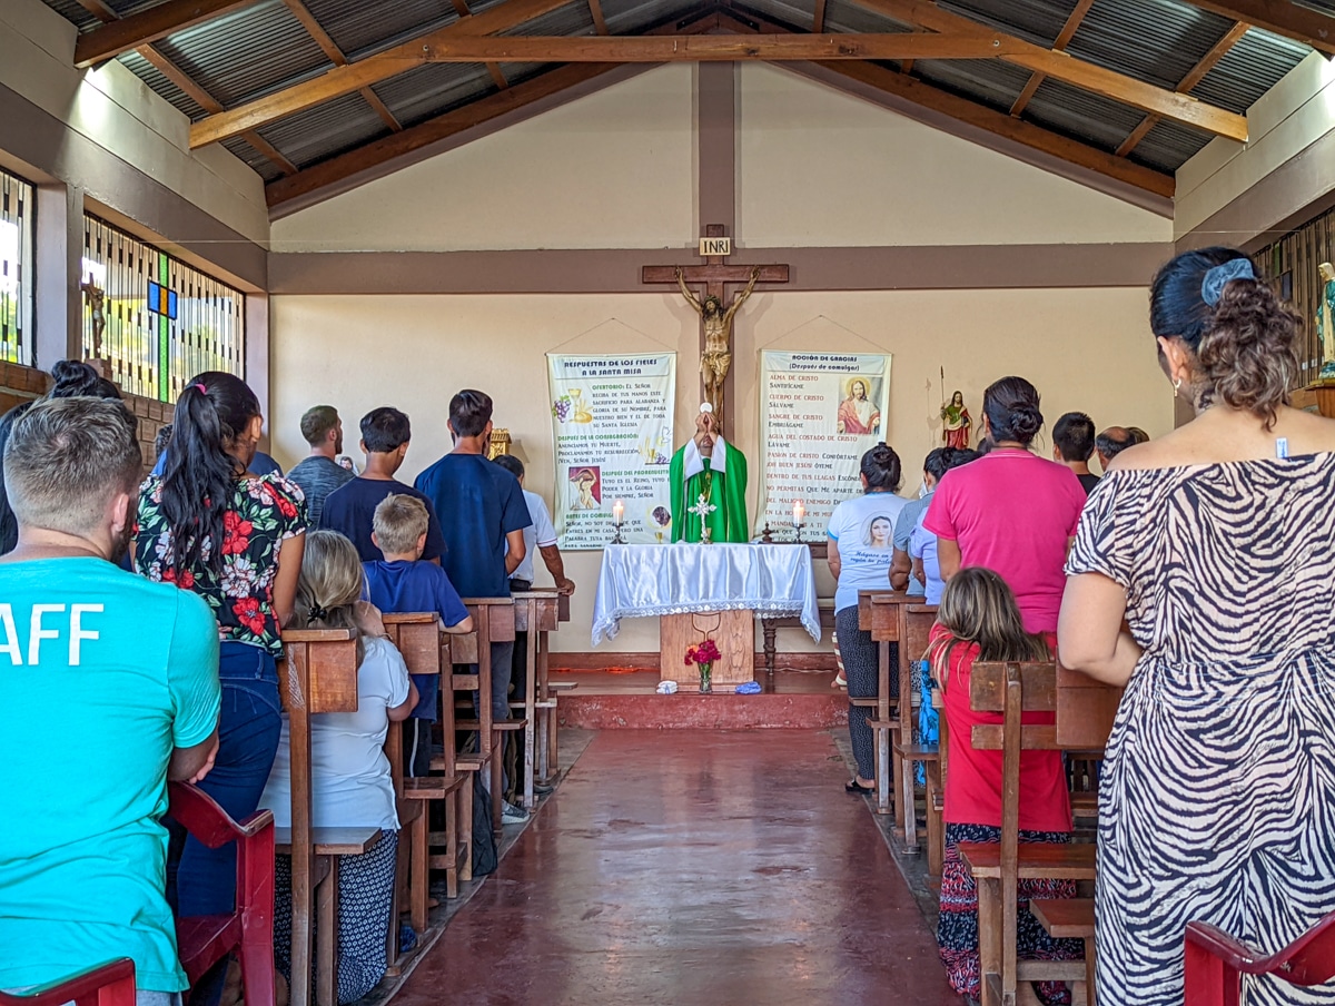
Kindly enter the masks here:
<path id="1" fill-rule="evenodd" d="M 222 147 L 190 150 L 190 120 L 115 60 L 72 67 L 77 32 L 40 0 L 0 3 L 0 84 L 251 240 L 268 239 L 259 175 Z M 0 147 L 4 144 L 0 127 Z M 59 158 L 53 158 L 59 160 Z M 63 178 L 132 214 L 105 178 Z"/>

